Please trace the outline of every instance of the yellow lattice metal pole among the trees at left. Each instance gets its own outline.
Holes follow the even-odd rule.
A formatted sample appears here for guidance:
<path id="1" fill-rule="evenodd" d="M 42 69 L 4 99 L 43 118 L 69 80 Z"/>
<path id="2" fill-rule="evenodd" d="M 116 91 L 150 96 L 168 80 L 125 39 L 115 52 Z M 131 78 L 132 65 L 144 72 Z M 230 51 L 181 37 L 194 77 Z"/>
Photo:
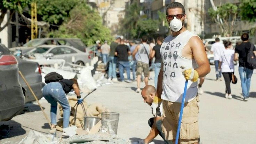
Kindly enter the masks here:
<path id="1" fill-rule="evenodd" d="M 31 2 L 31 39 L 37 38 L 37 3 Z"/>

